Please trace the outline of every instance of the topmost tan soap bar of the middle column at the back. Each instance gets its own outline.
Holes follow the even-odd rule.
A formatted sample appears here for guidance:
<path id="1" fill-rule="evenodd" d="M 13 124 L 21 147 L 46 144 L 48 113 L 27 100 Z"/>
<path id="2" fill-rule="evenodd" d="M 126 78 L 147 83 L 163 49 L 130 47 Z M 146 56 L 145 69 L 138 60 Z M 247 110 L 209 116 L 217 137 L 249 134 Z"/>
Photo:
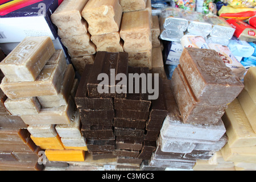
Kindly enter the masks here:
<path id="1" fill-rule="evenodd" d="M 90 0 L 82 10 L 82 16 L 89 24 L 90 35 L 119 31 L 122 13 L 119 0 Z"/>

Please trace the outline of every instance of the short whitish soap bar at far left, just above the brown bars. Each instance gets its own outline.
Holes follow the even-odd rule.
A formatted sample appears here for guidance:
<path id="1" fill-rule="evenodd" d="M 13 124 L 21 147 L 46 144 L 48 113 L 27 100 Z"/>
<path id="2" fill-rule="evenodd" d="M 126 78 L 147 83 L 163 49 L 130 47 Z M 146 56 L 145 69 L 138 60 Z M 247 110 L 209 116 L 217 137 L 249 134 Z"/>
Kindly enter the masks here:
<path id="1" fill-rule="evenodd" d="M 5 106 L 12 115 L 38 114 L 42 107 L 36 97 L 17 98 L 15 100 L 7 98 Z"/>

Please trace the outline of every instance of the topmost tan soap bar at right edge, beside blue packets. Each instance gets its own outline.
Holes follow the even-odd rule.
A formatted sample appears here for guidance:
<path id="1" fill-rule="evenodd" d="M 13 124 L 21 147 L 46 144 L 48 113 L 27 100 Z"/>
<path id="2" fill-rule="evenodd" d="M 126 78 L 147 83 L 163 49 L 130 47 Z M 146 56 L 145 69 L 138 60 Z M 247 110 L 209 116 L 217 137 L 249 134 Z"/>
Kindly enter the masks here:
<path id="1" fill-rule="evenodd" d="M 254 104 L 256 104 L 256 67 L 249 68 L 248 72 L 243 78 L 245 90 L 249 93 Z"/>

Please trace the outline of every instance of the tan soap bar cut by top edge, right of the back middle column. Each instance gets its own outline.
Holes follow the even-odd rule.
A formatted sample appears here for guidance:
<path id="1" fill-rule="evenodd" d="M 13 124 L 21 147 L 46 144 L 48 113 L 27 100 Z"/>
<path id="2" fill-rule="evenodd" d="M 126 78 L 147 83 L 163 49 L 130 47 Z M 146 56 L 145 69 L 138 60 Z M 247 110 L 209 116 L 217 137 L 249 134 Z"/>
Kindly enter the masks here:
<path id="1" fill-rule="evenodd" d="M 144 10 L 146 8 L 146 3 L 147 0 L 121 0 L 123 12 Z"/>

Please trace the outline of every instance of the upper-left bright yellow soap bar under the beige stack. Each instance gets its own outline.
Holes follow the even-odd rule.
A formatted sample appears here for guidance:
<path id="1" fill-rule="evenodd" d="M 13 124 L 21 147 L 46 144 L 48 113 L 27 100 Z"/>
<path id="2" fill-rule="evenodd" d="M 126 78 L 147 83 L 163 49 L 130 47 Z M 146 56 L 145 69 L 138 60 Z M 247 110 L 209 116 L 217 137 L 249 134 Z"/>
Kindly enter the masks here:
<path id="1" fill-rule="evenodd" d="M 59 149 L 59 150 L 64 149 L 59 135 L 51 138 L 37 138 L 31 135 L 30 138 L 33 140 L 33 142 L 37 146 L 39 146 L 42 149 Z"/>

